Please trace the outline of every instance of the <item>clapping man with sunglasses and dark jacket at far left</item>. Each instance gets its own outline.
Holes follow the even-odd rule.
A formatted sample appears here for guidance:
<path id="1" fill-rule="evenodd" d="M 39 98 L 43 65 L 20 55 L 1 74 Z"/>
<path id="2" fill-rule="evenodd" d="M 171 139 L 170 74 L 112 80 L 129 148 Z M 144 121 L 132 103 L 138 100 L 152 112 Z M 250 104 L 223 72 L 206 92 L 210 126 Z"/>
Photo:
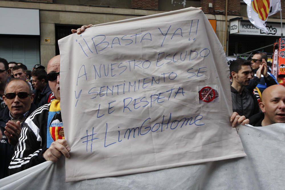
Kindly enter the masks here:
<path id="1" fill-rule="evenodd" d="M 13 78 L 5 88 L 3 100 L 7 107 L 0 112 L 0 128 L 3 135 L 0 141 L 0 179 L 7 176 L 7 169 L 24 121 L 36 110 L 33 99 L 32 90 L 23 79 Z"/>

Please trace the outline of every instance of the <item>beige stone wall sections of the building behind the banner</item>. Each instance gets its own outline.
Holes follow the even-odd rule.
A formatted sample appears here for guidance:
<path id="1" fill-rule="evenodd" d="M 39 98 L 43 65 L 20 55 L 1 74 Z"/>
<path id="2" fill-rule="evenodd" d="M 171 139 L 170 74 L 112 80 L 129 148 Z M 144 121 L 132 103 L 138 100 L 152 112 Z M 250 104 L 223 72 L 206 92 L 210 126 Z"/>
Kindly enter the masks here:
<path id="1" fill-rule="evenodd" d="M 130 19 L 145 15 L 162 13 L 163 11 L 148 11 L 139 9 L 122 9 L 107 7 L 91 7 L 80 5 L 62 5 L 48 3 L 27 3 L 16 1 L 1 1 L 0 7 L 29 8 L 40 10 L 40 57 L 41 64 L 46 67 L 48 61 L 55 56 L 55 24 L 87 25 L 100 24 L 123 19 Z M 208 19 L 217 20 L 217 36 L 224 47 L 225 36 L 225 16 L 206 14 Z M 236 16 L 228 16 L 227 20 Z M 243 17 L 247 20 L 246 17 Z M 268 19 L 275 21 L 276 19 Z M 227 23 L 229 25 L 229 22 Z M 44 39 L 50 38 L 50 43 L 45 43 Z"/>

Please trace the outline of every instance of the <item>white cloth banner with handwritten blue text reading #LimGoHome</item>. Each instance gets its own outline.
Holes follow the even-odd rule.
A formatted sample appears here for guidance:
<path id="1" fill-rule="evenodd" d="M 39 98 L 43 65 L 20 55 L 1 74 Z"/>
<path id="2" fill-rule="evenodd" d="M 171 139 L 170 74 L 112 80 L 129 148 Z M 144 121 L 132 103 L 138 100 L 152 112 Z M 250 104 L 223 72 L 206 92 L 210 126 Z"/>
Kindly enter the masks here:
<path id="1" fill-rule="evenodd" d="M 66 181 L 245 156 L 225 53 L 201 10 L 96 25 L 59 46 Z"/>

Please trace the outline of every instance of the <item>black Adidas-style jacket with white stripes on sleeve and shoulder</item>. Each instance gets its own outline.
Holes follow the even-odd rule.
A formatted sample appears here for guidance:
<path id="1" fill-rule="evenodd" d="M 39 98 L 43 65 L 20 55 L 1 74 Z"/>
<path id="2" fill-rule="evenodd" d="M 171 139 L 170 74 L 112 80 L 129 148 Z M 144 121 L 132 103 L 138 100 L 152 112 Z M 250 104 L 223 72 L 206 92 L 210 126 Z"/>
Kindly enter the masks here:
<path id="1" fill-rule="evenodd" d="M 8 175 L 45 162 L 46 128 L 50 103 L 36 109 L 23 124 L 19 143 L 8 167 Z"/>

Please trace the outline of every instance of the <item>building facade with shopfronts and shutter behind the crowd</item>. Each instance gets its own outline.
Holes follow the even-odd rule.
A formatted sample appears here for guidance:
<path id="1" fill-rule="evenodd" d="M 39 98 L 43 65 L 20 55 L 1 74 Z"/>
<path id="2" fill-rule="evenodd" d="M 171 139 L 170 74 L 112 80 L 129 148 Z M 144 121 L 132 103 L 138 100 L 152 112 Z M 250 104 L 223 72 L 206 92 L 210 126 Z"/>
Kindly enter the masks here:
<path id="1" fill-rule="evenodd" d="M 281 3 L 285 11 L 285 2 Z M 203 8 L 229 56 L 273 44 L 280 38 L 280 13 L 268 19 L 271 32 L 262 34 L 249 23 L 247 5 L 240 0 L 0 0 L 0 57 L 22 62 L 28 69 L 36 63 L 46 67 L 50 58 L 60 53 L 57 41 L 71 34 L 72 28 L 191 6 Z M 230 32 L 236 26 L 238 32 Z M 273 51 L 273 46 L 270 48 L 264 51 Z"/>

